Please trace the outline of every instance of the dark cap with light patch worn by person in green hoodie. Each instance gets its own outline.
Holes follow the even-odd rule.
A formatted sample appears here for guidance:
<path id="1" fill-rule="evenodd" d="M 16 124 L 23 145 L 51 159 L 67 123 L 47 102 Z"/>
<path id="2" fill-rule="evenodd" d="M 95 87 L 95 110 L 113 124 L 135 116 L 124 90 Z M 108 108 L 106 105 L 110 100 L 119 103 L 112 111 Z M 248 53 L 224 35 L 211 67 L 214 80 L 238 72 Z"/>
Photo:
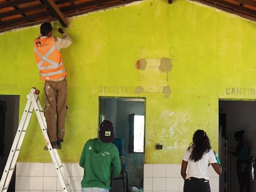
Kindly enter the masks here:
<path id="1" fill-rule="evenodd" d="M 114 126 L 109 120 L 103 120 L 99 129 L 100 140 L 104 143 L 111 143 L 114 141 Z"/>

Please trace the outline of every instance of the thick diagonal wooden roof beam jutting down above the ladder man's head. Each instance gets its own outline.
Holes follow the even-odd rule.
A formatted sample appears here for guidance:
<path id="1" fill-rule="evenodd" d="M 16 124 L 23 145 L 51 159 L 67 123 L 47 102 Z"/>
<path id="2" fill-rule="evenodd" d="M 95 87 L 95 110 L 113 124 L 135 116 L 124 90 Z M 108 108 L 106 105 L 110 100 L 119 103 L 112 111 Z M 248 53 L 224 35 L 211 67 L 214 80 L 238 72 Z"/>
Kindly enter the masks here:
<path id="1" fill-rule="evenodd" d="M 61 10 L 59 10 L 58 6 L 56 6 L 55 2 L 53 0 L 43 0 L 45 2 L 46 6 L 48 7 L 49 11 L 57 17 L 59 22 L 63 27 L 68 27 L 69 23 L 66 20 L 66 17 L 62 14 Z"/>

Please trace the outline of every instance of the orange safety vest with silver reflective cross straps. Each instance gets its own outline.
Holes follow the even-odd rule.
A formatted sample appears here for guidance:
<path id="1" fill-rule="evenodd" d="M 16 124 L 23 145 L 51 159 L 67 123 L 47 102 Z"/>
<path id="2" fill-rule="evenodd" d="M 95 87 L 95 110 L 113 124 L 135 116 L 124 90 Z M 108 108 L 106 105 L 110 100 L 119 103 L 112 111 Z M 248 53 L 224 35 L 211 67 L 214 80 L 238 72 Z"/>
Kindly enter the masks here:
<path id="1" fill-rule="evenodd" d="M 41 80 L 51 81 L 67 76 L 61 53 L 56 49 L 54 36 L 36 38 L 34 51 Z"/>

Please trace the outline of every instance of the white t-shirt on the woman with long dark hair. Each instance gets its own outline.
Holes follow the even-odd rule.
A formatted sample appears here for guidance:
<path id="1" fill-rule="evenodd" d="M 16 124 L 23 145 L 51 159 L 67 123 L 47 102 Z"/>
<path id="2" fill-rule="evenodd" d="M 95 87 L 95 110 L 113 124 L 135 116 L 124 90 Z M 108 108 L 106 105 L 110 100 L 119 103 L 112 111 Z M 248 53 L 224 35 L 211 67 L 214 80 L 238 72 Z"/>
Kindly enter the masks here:
<path id="1" fill-rule="evenodd" d="M 197 162 L 191 161 L 189 159 L 190 154 L 191 154 L 191 149 L 186 150 L 182 157 L 184 161 L 187 161 L 186 179 L 189 177 L 195 177 L 195 178 L 204 178 L 206 180 L 209 180 L 208 164 L 214 164 L 217 162 L 215 158 L 215 154 L 213 153 L 213 150 L 210 149 L 209 152 L 203 154 L 202 159 L 200 159 Z"/>

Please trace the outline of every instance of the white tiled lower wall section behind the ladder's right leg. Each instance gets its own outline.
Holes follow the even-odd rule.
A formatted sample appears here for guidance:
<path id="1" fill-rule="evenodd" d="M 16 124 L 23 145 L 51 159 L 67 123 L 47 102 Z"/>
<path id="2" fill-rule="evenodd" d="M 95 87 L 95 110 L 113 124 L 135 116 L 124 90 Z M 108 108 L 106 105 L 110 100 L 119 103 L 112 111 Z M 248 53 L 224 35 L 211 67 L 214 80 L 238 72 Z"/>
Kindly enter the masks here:
<path id="1" fill-rule="evenodd" d="M 63 164 L 72 191 L 81 191 L 83 169 L 79 164 Z M 16 166 L 15 192 L 62 191 L 53 163 L 22 163 Z"/>

